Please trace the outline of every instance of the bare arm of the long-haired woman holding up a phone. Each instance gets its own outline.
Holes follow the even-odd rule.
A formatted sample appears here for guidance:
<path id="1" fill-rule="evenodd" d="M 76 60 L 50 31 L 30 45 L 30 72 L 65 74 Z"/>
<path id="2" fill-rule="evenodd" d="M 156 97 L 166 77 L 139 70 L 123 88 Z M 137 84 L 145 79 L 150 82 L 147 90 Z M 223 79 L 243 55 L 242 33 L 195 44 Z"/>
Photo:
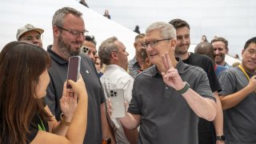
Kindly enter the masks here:
<path id="1" fill-rule="evenodd" d="M 66 131 L 66 137 L 62 137 L 56 134 L 50 134 L 48 132 L 39 130 L 38 134 L 31 143 L 82 143 L 86 134 L 87 126 L 87 108 L 88 108 L 88 97 L 86 92 L 86 86 L 79 78 L 78 82 L 68 81 L 74 91 L 74 97 L 78 96 L 78 105 L 74 111 L 74 117 L 70 122 L 70 126 Z M 66 82 L 64 84 L 66 87 Z M 66 97 L 70 90 L 66 90 Z M 62 125 L 62 123 L 60 124 Z M 53 129 L 53 128 L 52 128 Z"/>

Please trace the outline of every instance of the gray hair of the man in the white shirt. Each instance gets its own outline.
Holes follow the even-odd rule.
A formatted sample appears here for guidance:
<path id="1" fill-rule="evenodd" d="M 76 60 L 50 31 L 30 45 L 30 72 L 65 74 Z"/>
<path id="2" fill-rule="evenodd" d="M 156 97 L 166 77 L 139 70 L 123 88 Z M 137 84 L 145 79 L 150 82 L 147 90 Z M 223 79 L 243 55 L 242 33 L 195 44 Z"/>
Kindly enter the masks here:
<path id="1" fill-rule="evenodd" d="M 118 41 L 116 37 L 107 38 L 102 42 L 101 46 L 98 47 L 98 57 L 101 59 L 102 63 L 110 65 L 110 59 L 112 58 L 111 53 L 118 53 L 118 46 L 114 43 L 116 41 Z"/>

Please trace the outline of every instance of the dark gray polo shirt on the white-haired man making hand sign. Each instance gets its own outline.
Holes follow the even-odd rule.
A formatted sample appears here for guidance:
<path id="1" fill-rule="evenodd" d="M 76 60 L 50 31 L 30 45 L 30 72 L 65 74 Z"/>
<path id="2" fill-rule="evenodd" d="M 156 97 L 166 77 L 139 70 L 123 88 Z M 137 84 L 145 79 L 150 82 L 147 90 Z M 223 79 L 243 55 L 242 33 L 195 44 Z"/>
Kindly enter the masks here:
<path id="1" fill-rule="evenodd" d="M 206 72 L 182 61 L 177 65 L 182 81 L 205 98 L 215 100 Z M 143 144 L 198 144 L 198 116 L 182 95 L 167 86 L 156 66 L 134 80 L 130 114 L 141 115 L 139 142 Z"/>

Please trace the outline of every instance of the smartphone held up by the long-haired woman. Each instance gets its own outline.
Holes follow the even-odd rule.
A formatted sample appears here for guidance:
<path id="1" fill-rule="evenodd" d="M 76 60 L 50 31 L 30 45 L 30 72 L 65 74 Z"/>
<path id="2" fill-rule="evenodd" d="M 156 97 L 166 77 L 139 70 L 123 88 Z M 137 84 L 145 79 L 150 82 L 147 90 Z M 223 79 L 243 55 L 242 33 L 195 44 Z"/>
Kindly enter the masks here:
<path id="1" fill-rule="evenodd" d="M 81 65 L 81 57 L 80 56 L 72 56 L 69 58 L 69 66 L 67 70 L 67 79 L 71 79 L 74 82 L 78 81 L 79 74 L 80 74 L 80 65 Z M 66 86 L 68 89 L 72 87 L 67 84 Z"/>

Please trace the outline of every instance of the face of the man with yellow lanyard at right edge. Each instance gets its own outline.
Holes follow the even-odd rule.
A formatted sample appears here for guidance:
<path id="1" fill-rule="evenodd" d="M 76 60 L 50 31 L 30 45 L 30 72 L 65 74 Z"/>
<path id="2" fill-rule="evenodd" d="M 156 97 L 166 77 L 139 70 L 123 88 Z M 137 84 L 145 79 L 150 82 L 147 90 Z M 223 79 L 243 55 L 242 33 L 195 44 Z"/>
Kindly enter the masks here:
<path id="1" fill-rule="evenodd" d="M 242 66 L 243 68 L 254 74 L 256 70 L 256 43 L 250 43 L 246 50 L 242 50 Z"/>

